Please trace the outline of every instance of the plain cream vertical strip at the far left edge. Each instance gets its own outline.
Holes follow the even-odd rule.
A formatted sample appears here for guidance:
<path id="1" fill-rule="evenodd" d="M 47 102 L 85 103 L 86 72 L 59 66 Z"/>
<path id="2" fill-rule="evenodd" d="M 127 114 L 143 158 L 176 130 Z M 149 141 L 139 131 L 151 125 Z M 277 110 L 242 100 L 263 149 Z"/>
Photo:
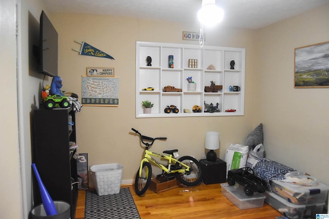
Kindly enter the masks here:
<path id="1" fill-rule="evenodd" d="M 17 126 L 17 86 L 16 86 L 16 47 L 15 47 L 15 2 L 0 3 L 0 39 L 2 52 L 0 66 L 3 76 L 0 84 L 0 139 L 1 153 L 1 218 L 20 218 L 21 180 L 19 166 L 19 141 Z"/>

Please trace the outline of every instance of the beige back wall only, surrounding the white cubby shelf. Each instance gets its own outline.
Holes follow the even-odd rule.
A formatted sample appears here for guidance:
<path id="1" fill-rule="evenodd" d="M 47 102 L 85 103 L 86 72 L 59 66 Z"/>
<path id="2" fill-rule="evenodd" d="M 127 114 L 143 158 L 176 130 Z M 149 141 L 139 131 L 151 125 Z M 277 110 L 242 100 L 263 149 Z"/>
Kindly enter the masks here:
<path id="1" fill-rule="evenodd" d="M 154 151 L 177 148 L 180 155 L 196 158 L 205 157 L 205 133 L 218 131 L 221 143 L 217 153 L 222 159 L 229 144 L 243 143 L 253 129 L 255 31 L 205 29 L 205 45 L 246 48 L 245 116 L 135 118 L 136 41 L 197 44 L 182 41 L 182 31 L 197 32 L 199 25 L 88 14 L 51 15 L 59 32 L 59 74 L 63 90 L 81 96 L 81 75 L 86 74 L 87 67 L 114 67 L 115 75 L 120 77 L 119 107 L 84 106 L 76 116 L 79 152 L 88 153 L 89 165 L 120 163 L 124 166 L 123 181 L 132 183 L 143 150 L 139 139 L 130 134 L 131 128 L 149 136 L 167 136 L 166 142 L 154 145 Z M 74 41 L 85 41 L 112 55 L 115 61 L 79 55 L 71 50 L 80 49 Z"/>

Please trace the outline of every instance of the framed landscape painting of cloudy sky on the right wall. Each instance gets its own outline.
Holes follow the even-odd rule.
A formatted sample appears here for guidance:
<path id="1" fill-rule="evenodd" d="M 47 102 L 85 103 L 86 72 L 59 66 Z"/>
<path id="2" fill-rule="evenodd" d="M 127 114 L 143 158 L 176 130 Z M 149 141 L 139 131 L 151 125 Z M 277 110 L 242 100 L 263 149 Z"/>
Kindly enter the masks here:
<path id="1" fill-rule="evenodd" d="M 295 88 L 329 88 L 329 41 L 295 49 Z"/>

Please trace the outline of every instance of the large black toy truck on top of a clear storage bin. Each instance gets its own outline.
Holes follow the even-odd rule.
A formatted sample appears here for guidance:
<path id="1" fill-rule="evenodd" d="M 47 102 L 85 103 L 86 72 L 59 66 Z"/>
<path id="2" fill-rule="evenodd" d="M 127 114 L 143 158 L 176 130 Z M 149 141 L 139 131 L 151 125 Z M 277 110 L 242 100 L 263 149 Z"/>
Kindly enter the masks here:
<path id="1" fill-rule="evenodd" d="M 244 191 L 248 196 L 252 195 L 253 192 L 265 192 L 267 189 L 267 183 L 255 176 L 250 167 L 229 170 L 227 183 L 230 186 L 233 186 L 235 183 L 244 186 Z"/>

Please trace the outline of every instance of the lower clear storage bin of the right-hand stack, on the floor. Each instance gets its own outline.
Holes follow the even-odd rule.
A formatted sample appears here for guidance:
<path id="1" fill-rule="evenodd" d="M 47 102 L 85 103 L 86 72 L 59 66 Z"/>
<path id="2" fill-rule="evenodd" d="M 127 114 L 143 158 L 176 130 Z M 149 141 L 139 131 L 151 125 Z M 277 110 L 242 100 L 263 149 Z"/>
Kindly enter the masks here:
<path id="1" fill-rule="evenodd" d="M 309 204 L 309 205 L 295 205 L 286 201 L 274 192 L 265 191 L 265 202 L 277 209 L 280 213 L 292 219 L 310 219 L 315 218 L 315 215 L 322 213 L 325 203 Z"/>

